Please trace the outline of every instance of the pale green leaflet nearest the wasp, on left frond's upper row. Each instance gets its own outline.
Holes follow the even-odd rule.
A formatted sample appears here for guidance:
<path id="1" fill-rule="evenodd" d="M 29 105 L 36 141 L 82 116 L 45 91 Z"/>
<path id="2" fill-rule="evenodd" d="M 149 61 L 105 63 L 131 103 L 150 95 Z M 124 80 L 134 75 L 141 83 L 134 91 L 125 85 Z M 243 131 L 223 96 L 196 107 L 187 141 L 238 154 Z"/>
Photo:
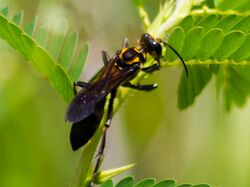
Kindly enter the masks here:
<path id="1" fill-rule="evenodd" d="M 89 53 L 89 44 L 85 44 L 83 46 L 83 48 L 81 49 L 81 51 L 79 52 L 75 63 L 72 65 L 71 69 L 70 69 L 70 77 L 72 80 L 78 80 L 81 72 L 83 70 L 84 64 L 87 60 L 88 57 L 88 53 Z"/>

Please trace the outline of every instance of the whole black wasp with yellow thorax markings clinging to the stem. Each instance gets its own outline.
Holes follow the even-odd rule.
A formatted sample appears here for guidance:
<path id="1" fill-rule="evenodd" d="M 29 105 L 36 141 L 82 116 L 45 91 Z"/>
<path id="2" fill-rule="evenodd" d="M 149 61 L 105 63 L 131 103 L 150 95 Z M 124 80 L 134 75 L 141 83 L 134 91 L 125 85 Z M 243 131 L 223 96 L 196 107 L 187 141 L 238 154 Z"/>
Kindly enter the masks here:
<path id="1" fill-rule="evenodd" d="M 106 130 L 110 126 L 113 102 L 118 87 L 123 86 L 143 91 L 154 90 L 157 84 L 134 85 L 130 81 L 140 71 L 152 73 L 159 70 L 162 44 L 175 52 L 183 63 L 186 73 L 188 73 L 183 59 L 174 48 L 160 39 L 153 38 L 150 34 L 143 34 L 139 41 L 139 47 L 128 47 L 127 40 L 124 40 L 122 50 L 118 50 L 111 59 L 103 51 L 103 68 L 88 83 L 81 81 L 74 83 L 75 97 L 71 101 L 65 116 L 66 121 L 73 123 L 70 132 L 70 142 L 73 150 L 85 145 L 94 135 L 104 113 L 106 96 L 110 94 L 107 121 L 98 153 L 99 156 L 103 155 Z M 148 54 L 154 58 L 156 63 L 144 67 Z M 79 93 L 76 93 L 76 86 L 82 88 Z M 100 160 L 97 160 L 97 165 L 98 162 Z M 97 169 L 98 166 L 95 170 Z"/>

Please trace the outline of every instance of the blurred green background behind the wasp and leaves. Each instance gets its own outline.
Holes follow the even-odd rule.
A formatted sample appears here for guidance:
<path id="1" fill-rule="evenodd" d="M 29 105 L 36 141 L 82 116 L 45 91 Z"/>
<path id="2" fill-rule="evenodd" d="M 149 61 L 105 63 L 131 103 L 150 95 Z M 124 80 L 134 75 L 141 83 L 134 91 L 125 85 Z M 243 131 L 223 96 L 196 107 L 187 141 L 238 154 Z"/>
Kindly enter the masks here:
<path id="1" fill-rule="evenodd" d="M 153 16 L 159 1 L 147 1 Z M 102 66 L 101 50 L 113 54 L 128 37 L 143 33 L 131 1 L 5 0 L 11 13 L 24 11 L 24 23 L 66 18 L 91 52 L 82 80 Z M 6 42 L 0 41 L 0 186 L 67 186 L 78 163 L 64 122 L 67 107 L 48 82 Z M 103 168 L 128 163 L 136 180 L 173 178 L 178 183 L 250 186 L 250 106 L 223 111 L 211 81 L 196 103 L 177 109 L 181 69 L 162 69 L 144 82 L 159 83 L 151 93 L 133 91 L 112 122 Z M 221 99 L 222 100 L 222 99 Z M 126 175 L 126 174 L 124 174 Z M 117 177 L 121 178 L 122 175 Z"/>

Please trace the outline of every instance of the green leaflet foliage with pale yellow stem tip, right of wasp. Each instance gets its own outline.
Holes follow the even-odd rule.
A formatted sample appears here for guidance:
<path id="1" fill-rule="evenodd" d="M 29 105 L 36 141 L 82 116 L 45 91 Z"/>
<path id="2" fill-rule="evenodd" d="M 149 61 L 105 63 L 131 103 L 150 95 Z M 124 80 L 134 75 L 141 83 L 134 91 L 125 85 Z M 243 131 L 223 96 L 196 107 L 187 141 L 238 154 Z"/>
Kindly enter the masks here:
<path id="1" fill-rule="evenodd" d="M 226 110 L 245 104 L 250 95 L 249 1 L 204 0 L 195 4 L 189 0 L 184 4 L 176 0 L 176 8 L 170 12 L 168 10 L 172 9 L 174 1 L 169 1 L 161 6 L 152 23 L 143 9 L 144 1 L 134 2 L 148 32 L 165 36 L 166 42 L 180 53 L 188 65 L 190 76 L 187 78 L 183 74 L 179 83 L 180 109 L 194 103 L 213 75 L 217 78 L 217 93 L 222 92 L 219 95 L 224 98 Z M 164 12 L 165 17 L 161 16 Z M 164 59 L 163 66 L 179 63 L 171 50 L 166 50 Z"/>

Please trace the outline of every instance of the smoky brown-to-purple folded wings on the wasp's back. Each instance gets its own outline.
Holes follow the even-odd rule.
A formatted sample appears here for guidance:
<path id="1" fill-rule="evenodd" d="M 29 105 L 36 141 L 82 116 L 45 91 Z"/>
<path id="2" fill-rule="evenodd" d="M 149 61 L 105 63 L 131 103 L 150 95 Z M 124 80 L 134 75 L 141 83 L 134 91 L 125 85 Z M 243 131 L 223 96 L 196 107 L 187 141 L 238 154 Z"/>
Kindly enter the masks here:
<path id="1" fill-rule="evenodd" d="M 70 103 L 65 120 L 77 123 L 84 120 L 95 110 L 96 103 L 105 98 L 114 88 L 121 85 L 136 70 L 131 67 L 117 68 L 116 56 L 91 80 L 89 88 L 80 92 Z"/>

